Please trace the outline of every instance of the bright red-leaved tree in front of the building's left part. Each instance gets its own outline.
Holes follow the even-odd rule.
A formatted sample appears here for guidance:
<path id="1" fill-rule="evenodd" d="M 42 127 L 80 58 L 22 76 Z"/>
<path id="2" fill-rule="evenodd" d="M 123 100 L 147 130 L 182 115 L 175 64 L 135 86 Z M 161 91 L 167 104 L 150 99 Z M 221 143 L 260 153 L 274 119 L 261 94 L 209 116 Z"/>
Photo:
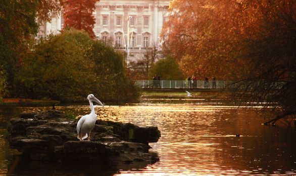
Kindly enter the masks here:
<path id="1" fill-rule="evenodd" d="M 85 30 L 94 38 L 93 27 L 95 19 L 92 13 L 98 0 L 65 0 L 64 19 L 65 26 L 78 30 Z"/>

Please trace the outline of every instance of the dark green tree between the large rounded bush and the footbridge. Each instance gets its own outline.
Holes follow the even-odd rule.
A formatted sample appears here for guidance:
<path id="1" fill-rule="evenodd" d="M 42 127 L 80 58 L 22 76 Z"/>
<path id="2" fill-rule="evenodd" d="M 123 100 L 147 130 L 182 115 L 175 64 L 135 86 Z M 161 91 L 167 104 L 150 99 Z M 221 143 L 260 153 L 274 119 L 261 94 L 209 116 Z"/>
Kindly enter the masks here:
<path id="1" fill-rule="evenodd" d="M 96 80 L 100 80 L 95 81 L 96 92 L 105 100 L 135 100 L 139 94 L 125 74 L 124 56 L 102 41 L 94 41 L 92 46 L 90 58 L 95 62 Z"/>

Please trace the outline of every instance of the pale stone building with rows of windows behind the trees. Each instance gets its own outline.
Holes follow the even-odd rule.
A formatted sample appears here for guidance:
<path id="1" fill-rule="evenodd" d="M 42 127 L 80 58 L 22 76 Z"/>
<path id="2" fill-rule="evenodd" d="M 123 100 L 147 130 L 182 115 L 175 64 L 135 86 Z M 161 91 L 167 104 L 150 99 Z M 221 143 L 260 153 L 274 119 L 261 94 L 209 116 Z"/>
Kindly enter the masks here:
<path id="1" fill-rule="evenodd" d="M 169 0 L 100 0 L 93 12 L 94 34 L 118 50 L 127 53 L 128 48 L 128 65 L 140 61 L 147 50 L 161 50 L 159 35 L 169 4 Z M 38 37 L 58 34 L 63 25 L 62 15 L 54 16 L 51 23 L 40 27 Z"/>

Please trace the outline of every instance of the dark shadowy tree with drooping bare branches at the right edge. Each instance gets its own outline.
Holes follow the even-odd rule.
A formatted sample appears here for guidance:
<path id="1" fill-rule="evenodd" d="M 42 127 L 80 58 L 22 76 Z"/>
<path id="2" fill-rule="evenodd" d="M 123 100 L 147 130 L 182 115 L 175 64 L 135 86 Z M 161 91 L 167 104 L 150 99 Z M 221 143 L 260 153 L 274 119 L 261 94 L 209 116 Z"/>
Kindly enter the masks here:
<path id="1" fill-rule="evenodd" d="M 261 1 L 250 6 L 261 14 L 260 25 L 239 42 L 235 57 L 249 63 L 250 74 L 236 82 L 234 98 L 263 106 L 275 114 L 266 124 L 275 123 L 296 115 L 296 2 Z"/>

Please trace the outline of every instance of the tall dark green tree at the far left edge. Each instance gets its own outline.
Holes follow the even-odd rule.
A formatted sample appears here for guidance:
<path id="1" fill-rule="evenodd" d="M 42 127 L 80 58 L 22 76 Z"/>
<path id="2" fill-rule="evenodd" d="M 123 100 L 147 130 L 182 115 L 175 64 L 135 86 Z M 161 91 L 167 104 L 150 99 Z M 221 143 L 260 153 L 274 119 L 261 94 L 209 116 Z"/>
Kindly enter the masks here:
<path id="1" fill-rule="evenodd" d="M 37 33 L 38 1 L 0 1 L 0 66 L 12 85 L 18 58 L 28 47 L 28 40 Z"/>

